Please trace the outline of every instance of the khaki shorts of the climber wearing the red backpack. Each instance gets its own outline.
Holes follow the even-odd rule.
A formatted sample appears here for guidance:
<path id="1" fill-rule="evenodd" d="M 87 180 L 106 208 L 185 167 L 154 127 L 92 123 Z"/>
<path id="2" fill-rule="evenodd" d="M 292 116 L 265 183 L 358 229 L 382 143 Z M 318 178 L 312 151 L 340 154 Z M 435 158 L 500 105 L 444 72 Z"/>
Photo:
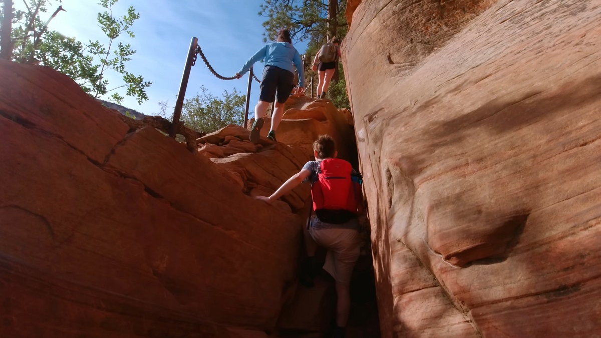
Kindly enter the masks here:
<path id="1" fill-rule="evenodd" d="M 309 233 L 317 244 L 328 249 L 323 269 L 335 280 L 350 283 L 355 263 L 359 259 L 361 238 L 355 229 L 319 229 Z"/>

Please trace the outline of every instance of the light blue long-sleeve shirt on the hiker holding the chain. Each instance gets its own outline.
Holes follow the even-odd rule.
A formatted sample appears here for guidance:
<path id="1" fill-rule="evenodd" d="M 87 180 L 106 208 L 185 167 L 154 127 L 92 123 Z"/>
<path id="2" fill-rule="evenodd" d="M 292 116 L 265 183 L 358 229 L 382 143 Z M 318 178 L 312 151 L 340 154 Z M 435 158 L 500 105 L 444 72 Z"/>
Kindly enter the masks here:
<path id="1" fill-rule="evenodd" d="M 287 42 L 272 42 L 267 43 L 263 48 L 259 49 L 252 58 L 244 64 L 242 69 L 238 72 L 240 75 L 244 75 L 251 69 L 251 66 L 255 62 L 264 59 L 265 66 L 275 66 L 281 69 L 288 70 L 288 72 L 294 74 L 294 66 L 299 73 L 299 86 L 305 87 L 305 70 L 303 68 L 301 55 L 290 43 Z"/>

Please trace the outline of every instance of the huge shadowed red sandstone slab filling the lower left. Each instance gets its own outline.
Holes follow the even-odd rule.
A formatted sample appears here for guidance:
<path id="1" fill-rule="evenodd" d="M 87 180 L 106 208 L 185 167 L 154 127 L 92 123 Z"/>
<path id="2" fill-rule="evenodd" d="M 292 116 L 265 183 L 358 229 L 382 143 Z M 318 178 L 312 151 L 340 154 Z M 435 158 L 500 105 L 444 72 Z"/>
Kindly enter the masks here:
<path id="1" fill-rule="evenodd" d="M 296 280 L 301 218 L 154 128 L 126 135 L 54 71 L 0 61 L 0 76 L 1 336 L 274 328 Z M 288 161 L 278 177 L 306 160 L 285 146 L 263 153 Z"/>

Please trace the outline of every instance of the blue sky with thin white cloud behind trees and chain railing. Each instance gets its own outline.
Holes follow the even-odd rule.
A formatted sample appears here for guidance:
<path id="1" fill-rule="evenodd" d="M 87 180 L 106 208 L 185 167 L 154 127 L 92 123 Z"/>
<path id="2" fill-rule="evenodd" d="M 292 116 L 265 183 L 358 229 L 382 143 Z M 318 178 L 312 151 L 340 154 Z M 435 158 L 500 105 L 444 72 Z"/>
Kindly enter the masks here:
<path id="1" fill-rule="evenodd" d="M 96 20 L 97 13 L 103 10 L 97 2 L 63 0 L 62 5 L 67 11 L 60 12 L 50 22 L 49 29 L 75 37 L 83 43 L 99 40 L 108 45 L 108 38 L 103 36 Z M 147 115 L 159 113 L 160 101 L 168 100 L 169 107 L 174 106 L 192 37 L 198 38 L 198 45 L 216 72 L 234 76 L 246 60 L 264 45 L 261 24 L 266 18 L 258 15 L 261 3 L 263 0 L 119 0 L 113 7 L 115 15 L 123 16 L 132 5 L 140 14 L 132 26 L 135 38 L 121 35 L 118 40 L 130 43 L 137 51 L 126 64 L 126 70 L 153 82 L 147 88 L 148 101 L 138 105 L 135 99 L 126 97 L 122 105 Z M 20 1 L 15 1 L 17 9 L 19 4 Z M 52 13 L 55 8 L 49 7 L 49 12 Z M 45 20 L 47 15 L 42 15 L 42 19 Z M 299 53 L 305 52 L 305 43 L 295 46 Z M 260 74 L 262 69 L 263 64 L 255 64 L 255 72 Z M 117 73 L 107 73 L 106 76 L 111 85 L 121 85 L 121 76 Z M 246 94 L 247 84 L 248 73 L 239 80 L 216 78 L 199 56 L 196 66 L 192 67 L 186 97 L 194 96 L 201 85 L 216 96 L 234 88 Z M 258 92 L 258 83 L 254 82 L 250 111 L 257 103 Z"/>

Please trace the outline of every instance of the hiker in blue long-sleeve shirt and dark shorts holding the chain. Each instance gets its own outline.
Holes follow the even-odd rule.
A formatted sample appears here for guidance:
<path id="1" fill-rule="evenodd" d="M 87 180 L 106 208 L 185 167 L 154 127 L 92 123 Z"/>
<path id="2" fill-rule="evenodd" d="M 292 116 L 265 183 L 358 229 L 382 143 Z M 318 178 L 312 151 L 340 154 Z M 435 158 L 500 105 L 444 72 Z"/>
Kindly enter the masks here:
<path id="1" fill-rule="evenodd" d="M 299 72 L 299 90 L 297 90 L 297 93 L 302 94 L 305 88 L 305 73 L 301 55 L 292 46 L 290 31 L 287 29 L 279 31 L 277 42 L 267 43 L 255 55 L 252 55 L 252 58 L 246 61 L 242 69 L 236 73 L 236 77 L 241 78 L 259 60 L 265 60 L 265 67 L 263 69 L 263 79 L 261 80 L 259 102 L 255 106 L 255 122 L 252 124 L 249 137 L 252 143 L 257 143 L 261 137 L 260 132 L 263 128 L 265 111 L 269 103 L 272 103 L 275 99 L 277 92 L 277 101 L 271 117 L 271 131 L 267 134 L 267 138 L 275 141 L 275 130 L 278 129 L 279 122 L 282 120 L 282 115 L 284 115 L 284 102 L 286 102 L 294 87 L 292 83 L 294 79 L 292 63 Z"/>

